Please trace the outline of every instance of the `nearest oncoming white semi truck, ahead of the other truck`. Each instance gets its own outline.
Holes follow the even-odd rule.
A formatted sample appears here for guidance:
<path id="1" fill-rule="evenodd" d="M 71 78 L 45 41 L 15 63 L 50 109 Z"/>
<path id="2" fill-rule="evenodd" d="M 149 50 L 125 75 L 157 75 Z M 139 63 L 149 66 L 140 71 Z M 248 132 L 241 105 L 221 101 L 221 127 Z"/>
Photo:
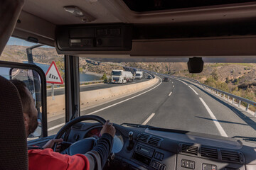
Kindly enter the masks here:
<path id="1" fill-rule="evenodd" d="M 112 75 L 112 77 L 111 77 L 112 83 L 123 84 L 123 83 L 127 83 L 129 81 L 133 81 L 132 72 L 125 72 L 124 70 L 114 69 L 114 70 L 112 70 L 111 75 Z"/>

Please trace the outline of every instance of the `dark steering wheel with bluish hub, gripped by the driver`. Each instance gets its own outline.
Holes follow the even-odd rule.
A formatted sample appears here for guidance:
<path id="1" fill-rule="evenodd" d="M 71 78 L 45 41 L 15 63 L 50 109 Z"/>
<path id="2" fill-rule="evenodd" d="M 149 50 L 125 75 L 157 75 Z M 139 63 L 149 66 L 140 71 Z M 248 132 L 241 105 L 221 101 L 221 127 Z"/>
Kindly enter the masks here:
<path id="1" fill-rule="evenodd" d="M 54 139 L 59 139 L 60 137 L 62 137 L 64 132 L 66 132 L 69 128 L 71 128 L 71 126 L 73 126 L 76 123 L 79 123 L 81 121 L 84 121 L 84 120 L 95 120 L 95 121 L 101 123 L 102 125 L 104 125 L 106 123 L 106 120 L 104 118 L 101 118 L 100 116 L 82 115 L 78 118 L 70 120 L 70 122 L 65 124 L 63 126 L 63 128 L 61 128 L 60 131 L 58 131 L 58 133 L 55 135 Z M 97 139 L 95 139 L 94 137 L 87 137 L 85 139 L 79 140 L 79 141 L 73 143 L 72 145 L 70 145 L 70 147 L 68 147 L 68 149 L 64 150 L 63 154 L 69 154 L 69 155 L 85 154 L 86 152 L 90 151 L 95 146 L 96 142 L 97 142 Z M 53 145 L 54 152 L 56 151 L 56 147 L 57 147 L 57 144 L 55 143 Z"/>

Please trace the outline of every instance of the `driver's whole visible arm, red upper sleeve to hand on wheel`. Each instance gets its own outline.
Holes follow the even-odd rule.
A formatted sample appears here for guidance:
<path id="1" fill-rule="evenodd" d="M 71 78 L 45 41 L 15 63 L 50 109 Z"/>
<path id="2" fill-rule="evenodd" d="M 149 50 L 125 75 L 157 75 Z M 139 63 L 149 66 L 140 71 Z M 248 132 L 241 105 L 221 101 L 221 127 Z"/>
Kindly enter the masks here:
<path id="1" fill-rule="evenodd" d="M 107 120 L 103 125 L 102 136 L 95 148 L 86 154 L 60 154 L 53 149 L 30 149 L 28 150 L 29 169 L 102 169 L 110 153 L 115 129 Z"/>

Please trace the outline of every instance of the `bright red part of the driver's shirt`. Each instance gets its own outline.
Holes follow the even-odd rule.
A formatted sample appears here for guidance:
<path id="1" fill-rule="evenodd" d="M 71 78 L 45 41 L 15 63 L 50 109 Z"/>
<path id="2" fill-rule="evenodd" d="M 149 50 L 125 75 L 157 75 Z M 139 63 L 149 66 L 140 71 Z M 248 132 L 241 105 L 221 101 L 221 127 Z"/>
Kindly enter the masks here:
<path id="1" fill-rule="evenodd" d="M 90 165 L 87 157 L 83 154 L 60 154 L 53 149 L 28 150 L 28 169 L 74 169 L 89 170 Z"/>

